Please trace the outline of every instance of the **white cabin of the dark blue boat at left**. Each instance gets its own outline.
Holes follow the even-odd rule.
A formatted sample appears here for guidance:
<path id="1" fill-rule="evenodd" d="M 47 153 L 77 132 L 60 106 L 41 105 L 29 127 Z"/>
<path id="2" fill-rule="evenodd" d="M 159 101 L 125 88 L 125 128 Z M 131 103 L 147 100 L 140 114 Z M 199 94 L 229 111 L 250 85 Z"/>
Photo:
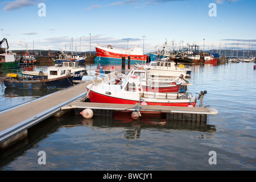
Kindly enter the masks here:
<path id="1" fill-rule="evenodd" d="M 54 65 L 53 67 L 49 67 L 47 69 L 48 79 L 59 78 L 63 76 L 70 75 L 71 73 L 68 71 L 68 67 L 63 67 L 62 65 Z"/>

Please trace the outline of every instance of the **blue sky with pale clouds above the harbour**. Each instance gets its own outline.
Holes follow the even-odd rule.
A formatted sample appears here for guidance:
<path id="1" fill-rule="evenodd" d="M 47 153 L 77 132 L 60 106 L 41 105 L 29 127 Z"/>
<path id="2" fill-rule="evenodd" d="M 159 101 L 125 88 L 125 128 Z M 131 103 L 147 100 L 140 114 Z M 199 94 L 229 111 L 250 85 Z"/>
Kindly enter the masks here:
<path id="1" fill-rule="evenodd" d="M 216 16 L 209 16 L 210 3 Z M 89 51 L 89 34 L 92 51 L 97 43 L 143 47 L 142 36 L 145 53 L 166 39 L 205 50 L 256 44 L 255 0 L 3 0 L 0 9 L 0 39 L 10 49 L 32 49 L 34 40 L 35 49 L 69 51 L 73 38 L 73 51 L 80 51 L 80 39 L 81 51 Z"/>

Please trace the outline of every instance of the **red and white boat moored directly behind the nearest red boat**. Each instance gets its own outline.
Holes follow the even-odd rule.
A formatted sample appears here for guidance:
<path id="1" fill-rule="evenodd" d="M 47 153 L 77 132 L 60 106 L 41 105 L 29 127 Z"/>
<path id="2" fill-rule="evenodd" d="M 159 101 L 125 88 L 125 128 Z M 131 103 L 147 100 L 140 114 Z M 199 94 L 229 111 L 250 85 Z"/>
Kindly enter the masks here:
<path id="1" fill-rule="evenodd" d="M 157 79 L 148 74 L 147 69 L 132 69 L 128 75 L 119 73 L 115 76 L 115 81 L 122 82 L 123 79 L 132 78 L 134 81 L 137 79 L 137 84 L 142 86 L 142 89 L 146 92 L 179 92 L 181 84 L 188 84 L 187 82 L 181 82 L 180 77 L 176 79 Z M 141 90 L 139 88 L 139 90 Z"/>

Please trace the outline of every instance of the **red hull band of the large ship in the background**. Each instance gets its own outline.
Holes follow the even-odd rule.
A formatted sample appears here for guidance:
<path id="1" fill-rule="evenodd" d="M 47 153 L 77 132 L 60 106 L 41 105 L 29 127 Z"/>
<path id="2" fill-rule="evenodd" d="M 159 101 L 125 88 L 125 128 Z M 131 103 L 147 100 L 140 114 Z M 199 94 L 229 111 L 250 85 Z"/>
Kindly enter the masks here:
<path id="1" fill-rule="evenodd" d="M 147 60 L 147 55 L 127 55 L 127 54 L 121 54 L 121 53 L 114 53 L 114 52 L 105 51 L 98 47 L 96 47 L 96 53 L 98 57 L 112 57 L 116 59 L 122 59 L 122 57 L 125 57 L 125 59 L 128 59 L 128 56 L 130 56 L 131 60 L 139 60 L 139 61 Z"/>

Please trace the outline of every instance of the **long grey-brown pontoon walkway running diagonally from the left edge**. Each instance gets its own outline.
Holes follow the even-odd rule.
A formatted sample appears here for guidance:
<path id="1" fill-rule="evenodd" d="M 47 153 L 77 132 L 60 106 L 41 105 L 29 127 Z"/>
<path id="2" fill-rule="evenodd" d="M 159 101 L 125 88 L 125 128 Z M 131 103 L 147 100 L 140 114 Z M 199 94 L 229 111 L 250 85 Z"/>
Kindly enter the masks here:
<path id="1" fill-rule="evenodd" d="M 109 73 L 109 78 L 115 73 Z M 109 78 L 97 79 L 94 82 L 108 81 Z M 0 112 L 0 148 L 2 143 L 13 138 L 15 135 L 26 131 L 29 127 L 36 125 L 44 119 L 61 111 L 61 107 L 85 97 L 86 86 L 93 81 L 77 84 L 67 89 L 40 97 L 34 101 L 15 106 L 11 109 Z M 16 139 L 15 139 L 16 140 Z M 5 144 L 3 144 L 5 145 Z"/>

